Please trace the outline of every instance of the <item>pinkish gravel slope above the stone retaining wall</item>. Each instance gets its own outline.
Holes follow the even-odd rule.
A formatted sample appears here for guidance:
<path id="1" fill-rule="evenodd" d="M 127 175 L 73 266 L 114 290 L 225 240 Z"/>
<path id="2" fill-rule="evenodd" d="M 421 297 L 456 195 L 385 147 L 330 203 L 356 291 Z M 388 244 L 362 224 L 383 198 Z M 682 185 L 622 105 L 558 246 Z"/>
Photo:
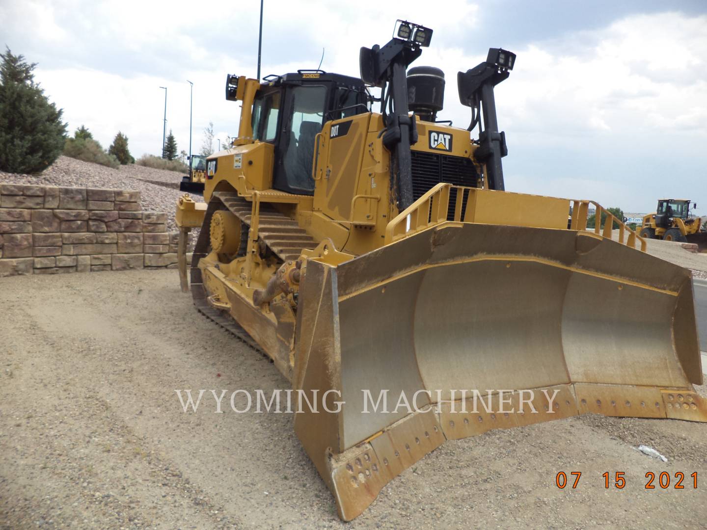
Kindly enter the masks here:
<path id="1" fill-rule="evenodd" d="M 16 175 L 0 172 L 0 183 L 136 189 L 140 192 L 142 209 L 168 213 L 168 230 L 176 230 L 175 204 L 177 199 L 184 194 L 179 191 L 182 176 L 180 172 L 156 170 L 135 164 L 122 165 L 119 169 L 114 170 L 104 165 L 60 156 L 41 175 Z M 192 195 L 195 200 L 201 200 L 201 195 Z"/>

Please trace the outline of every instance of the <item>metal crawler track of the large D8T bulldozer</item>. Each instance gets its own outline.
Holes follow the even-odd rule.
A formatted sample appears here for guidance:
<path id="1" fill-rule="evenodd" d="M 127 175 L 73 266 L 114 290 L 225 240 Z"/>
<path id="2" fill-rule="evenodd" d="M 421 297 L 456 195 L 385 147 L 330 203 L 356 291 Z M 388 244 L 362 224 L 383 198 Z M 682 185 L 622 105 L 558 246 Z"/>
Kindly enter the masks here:
<path id="1" fill-rule="evenodd" d="M 190 283 L 194 306 L 197 307 L 197 310 L 203 314 L 204 317 L 218 324 L 223 329 L 226 329 L 230 334 L 233 334 L 235 337 L 239 338 L 240 341 L 243 341 L 272 362 L 269 355 L 263 351 L 259 344 L 230 316 L 230 314 L 226 314 L 223 310 L 211 307 L 206 300 L 206 289 L 204 288 L 201 269 L 199 269 L 199 260 L 205 257 L 209 251 L 209 230 L 204 230 L 204 227 L 211 225 L 211 216 L 214 215 L 215 211 L 221 209 L 221 205 L 226 206 L 228 211 L 234 213 L 243 223 L 250 226 L 250 220 L 252 218 L 252 204 L 250 202 L 238 196 L 238 194 L 230 192 L 215 192 L 212 195 L 209 206 L 206 208 L 204 223 L 201 225 L 197 243 L 194 245 L 194 254 L 190 269 Z M 262 205 L 260 208 L 258 235 L 262 238 L 267 247 L 283 261 L 288 259 L 296 260 L 300 257 L 300 252 L 303 249 L 314 249 L 317 247 L 317 242 L 315 242 L 305 230 L 300 228 L 295 220 L 289 218 L 284 213 L 276 211 L 272 206 L 267 204 Z"/>

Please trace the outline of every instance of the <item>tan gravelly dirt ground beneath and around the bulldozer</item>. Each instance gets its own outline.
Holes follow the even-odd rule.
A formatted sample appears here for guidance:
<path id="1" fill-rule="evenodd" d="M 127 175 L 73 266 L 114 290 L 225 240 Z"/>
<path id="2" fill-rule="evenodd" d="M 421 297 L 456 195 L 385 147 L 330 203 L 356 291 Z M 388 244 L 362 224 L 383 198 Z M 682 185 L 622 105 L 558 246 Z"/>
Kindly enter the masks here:
<path id="1" fill-rule="evenodd" d="M 707 425 L 600 416 L 445 442 L 345 524 L 291 415 L 217 414 L 210 395 L 182 411 L 175 389 L 287 382 L 201 317 L 176 271 L 3 278 L 0 305 L 1 528 L 706 525 Z M 557 488 L 559 471 L 581 471 L 578 487 Z M 605 471 L 626 487 L 604 489 Z M 648 471 L 670 488 L 645 490 Z"/>

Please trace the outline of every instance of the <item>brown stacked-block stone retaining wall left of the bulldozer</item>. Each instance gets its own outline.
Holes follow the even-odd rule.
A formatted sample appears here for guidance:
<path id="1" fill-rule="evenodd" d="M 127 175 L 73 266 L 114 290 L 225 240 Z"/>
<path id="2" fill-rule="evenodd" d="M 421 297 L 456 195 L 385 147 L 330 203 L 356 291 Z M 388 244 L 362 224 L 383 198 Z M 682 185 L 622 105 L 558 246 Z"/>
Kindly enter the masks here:
<path id="1" fill-rule="evenodd" d="M 0 184 L 0 277 L 176 267 L 166 223 L 140 192 Z"/>

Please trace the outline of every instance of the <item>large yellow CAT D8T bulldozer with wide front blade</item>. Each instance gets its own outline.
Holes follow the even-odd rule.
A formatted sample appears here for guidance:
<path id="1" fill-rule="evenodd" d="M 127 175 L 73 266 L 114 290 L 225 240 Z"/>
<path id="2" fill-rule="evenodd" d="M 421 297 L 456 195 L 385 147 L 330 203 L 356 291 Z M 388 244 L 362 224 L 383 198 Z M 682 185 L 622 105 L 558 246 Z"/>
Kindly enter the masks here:
<path id="1" fill-rule="evenodd" d="M 407 70 L 432 31 L 395 35 L 361 49 L 361 78 L 228 76 L 238 138 L 207 159 L 206 202 L 176 212 L 185 290 L 201 227 L 197 309 L 322 400 L 294 426 L 339 516 L 448 439 L 582 413 L 707 420 L 690 271 L 611 213 L 587 230 L 593 201 L 504 190 L 493 87 L 515 55 L 458 74 L 472 110 L 458 129 L 437 120 L 443 72 Z M 490 389 L 490 406 L 462 389 Z"/>

